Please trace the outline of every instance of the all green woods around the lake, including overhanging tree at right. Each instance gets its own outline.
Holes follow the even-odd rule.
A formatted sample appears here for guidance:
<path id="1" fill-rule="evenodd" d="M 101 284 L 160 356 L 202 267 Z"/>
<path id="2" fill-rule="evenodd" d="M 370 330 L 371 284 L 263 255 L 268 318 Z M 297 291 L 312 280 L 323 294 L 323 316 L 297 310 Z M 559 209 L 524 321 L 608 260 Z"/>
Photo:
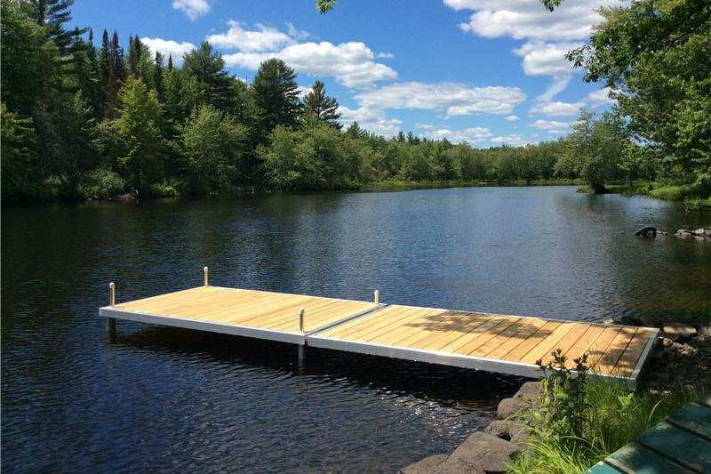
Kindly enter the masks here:
<path id="1" fill-rule="evenodd" d="M 176 60 L 139 36 L 124 49 L 116 31 L 68 28 L 72 4 L 2 0 L 3 202 L 571 180 L 595 192 L 642 180 L 675 186 L 675 197 L 711 194 L 704 2 L 665 0 L 676 9 L 667 16 L 645 2 L 603 10 L 569 59 L 617 104 L 581 110 L 555 141 L 489 149 L 344 127 L 324 83 L 301 96 L 282 60 L 264 61 L 247 84 L 206 42 Z"/>

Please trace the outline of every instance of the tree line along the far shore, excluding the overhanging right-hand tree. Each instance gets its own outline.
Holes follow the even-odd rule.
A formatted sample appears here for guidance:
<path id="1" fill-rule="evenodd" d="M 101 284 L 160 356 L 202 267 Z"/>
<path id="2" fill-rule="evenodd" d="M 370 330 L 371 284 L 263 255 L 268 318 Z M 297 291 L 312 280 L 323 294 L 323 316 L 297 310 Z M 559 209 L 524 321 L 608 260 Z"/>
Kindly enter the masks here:
<path id="1" fill-rule="evenodd" d="M 521 147 L 475 149 L 402 132 L 385 138 L 357 123 L 343 129 L 324 83 L 301 97 L 296 72 L 282 60 L 263 62 L 247 84 L 208 43 L 164 58 L 139 36 L 127 50 L 116 31 L 95 42 L 90 29 L 67 28 L 71 5 L 2 0 L 4 201 L 383 181 L 583 179 L 603 190 L 606 181 L 703 179 L 703 163 L 669 159 L 640 141 L 617 109 L 583 110 L 570 135 Z"/>

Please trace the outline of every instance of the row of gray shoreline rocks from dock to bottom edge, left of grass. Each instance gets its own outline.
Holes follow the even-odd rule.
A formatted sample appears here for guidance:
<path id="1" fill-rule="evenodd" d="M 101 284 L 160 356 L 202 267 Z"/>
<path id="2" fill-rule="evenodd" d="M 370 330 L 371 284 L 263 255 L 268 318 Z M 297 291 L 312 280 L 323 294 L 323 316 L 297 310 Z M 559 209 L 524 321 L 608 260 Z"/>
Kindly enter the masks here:
<path id="1" fill-rule="evenodd" d="M 435 454 L 403 468 L 403 474 L 484 474 L 506 472 L 511 456 L 529 437 L 518 416 L 539 406 L 540 382 L 525 382 L 511 398 L 499 402 L 497 419 L 483 431 L 475 431 L 451 454 Z"/>

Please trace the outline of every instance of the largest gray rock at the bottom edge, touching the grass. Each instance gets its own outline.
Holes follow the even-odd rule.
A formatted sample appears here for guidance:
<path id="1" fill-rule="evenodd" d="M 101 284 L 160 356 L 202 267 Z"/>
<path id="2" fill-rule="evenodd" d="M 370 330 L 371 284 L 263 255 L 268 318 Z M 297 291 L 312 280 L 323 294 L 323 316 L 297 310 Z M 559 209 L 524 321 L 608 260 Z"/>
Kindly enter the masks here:
<path id="1" fill-rule="evenodd" d="M 454 450 L 442 463 L 439 472 L 506 472 L 511 455 L 517 451 L 516 446 L 508 441 L 477 431 Z"/>

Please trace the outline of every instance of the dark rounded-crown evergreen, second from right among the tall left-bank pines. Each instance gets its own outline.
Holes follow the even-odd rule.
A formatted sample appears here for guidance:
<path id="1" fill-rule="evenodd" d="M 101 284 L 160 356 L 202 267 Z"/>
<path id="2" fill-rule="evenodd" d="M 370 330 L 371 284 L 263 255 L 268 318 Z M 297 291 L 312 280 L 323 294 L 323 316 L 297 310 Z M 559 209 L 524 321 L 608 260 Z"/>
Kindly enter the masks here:
<path id="1" fill-rule="evenodd" d="M 283 60 L 262 62 L 252 88 L 262 141 L 277 125 L 296 125 L 301 108 L 296 73 Z"/>

